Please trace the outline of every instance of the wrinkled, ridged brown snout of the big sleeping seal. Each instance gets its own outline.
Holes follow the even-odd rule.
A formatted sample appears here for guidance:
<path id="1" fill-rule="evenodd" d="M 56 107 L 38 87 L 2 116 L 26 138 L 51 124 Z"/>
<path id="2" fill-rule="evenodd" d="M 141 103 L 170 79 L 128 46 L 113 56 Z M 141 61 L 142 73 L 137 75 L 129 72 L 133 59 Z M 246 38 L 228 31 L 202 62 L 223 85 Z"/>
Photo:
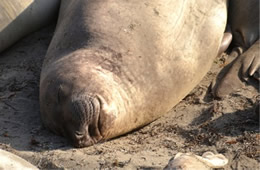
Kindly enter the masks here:
<path id="1" fill-rule="evenodd" d="M 100 101 L 98 97 L 74 94 L 70 101 L 71 125 L 67 127 L 69 137 L 76 147 L 93 145 L 102 139 L 99 129 Z"/>

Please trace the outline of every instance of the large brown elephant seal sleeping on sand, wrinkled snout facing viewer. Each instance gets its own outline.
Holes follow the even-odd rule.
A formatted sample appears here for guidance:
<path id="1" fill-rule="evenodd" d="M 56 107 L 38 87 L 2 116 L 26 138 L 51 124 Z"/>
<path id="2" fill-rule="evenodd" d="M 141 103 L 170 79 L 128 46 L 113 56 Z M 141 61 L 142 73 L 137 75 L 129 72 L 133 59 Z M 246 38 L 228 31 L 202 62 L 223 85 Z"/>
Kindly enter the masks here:
<path id="1" fill-rule="evenodd" d="M 40 81 L 46 127 L 85 147 L 169 111 L 210 69 L 226 1 L 63 0 Z"/>

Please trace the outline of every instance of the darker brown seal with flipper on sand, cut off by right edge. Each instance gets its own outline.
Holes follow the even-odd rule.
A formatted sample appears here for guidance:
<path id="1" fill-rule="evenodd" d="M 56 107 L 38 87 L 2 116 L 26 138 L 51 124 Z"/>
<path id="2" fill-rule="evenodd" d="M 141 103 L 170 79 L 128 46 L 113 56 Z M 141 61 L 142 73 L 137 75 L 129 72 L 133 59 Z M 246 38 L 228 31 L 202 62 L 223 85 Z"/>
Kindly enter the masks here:
<path id="1" fill-rule="evenodd" d="M 222 70 L 213 87 L 214 95 L 219 98 L 243 87 L 242 82 L 251 77 L 259 84 L 259 0 L 230 0 L 228 25 L 233 37 L 230 58 L 234 61 Z"/>

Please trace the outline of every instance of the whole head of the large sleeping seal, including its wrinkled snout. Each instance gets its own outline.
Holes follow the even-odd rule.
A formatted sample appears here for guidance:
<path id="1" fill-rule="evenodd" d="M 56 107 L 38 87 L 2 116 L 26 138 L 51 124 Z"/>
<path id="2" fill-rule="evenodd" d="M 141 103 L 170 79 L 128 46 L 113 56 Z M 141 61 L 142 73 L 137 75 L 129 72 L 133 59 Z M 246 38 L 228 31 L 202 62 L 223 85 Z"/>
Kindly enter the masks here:
<path id="1" fill-rule="evenodd" d="M 102 87 L 107 83 L 80 60 L 73 57 L 66 60 L 43 70 L 41 117 L 46 127 L 69 138 L 75 147 L 90 146 L 107 137 L 107 129 L 113 123 L 114 110 L 106 109 L 103 98 L 104 91 L 109 90 Z"/>

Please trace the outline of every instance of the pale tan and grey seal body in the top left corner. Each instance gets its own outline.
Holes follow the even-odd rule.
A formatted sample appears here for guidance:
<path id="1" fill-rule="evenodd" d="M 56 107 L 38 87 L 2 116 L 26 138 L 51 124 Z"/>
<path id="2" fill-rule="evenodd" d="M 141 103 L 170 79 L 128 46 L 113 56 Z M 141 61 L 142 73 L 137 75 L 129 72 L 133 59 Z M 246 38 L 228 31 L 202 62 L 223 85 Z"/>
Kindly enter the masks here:
<path id="1" fill-rule="evenodd" d="M 59 0 L 1 0 L 0 52 L 56 17 Z"/>

